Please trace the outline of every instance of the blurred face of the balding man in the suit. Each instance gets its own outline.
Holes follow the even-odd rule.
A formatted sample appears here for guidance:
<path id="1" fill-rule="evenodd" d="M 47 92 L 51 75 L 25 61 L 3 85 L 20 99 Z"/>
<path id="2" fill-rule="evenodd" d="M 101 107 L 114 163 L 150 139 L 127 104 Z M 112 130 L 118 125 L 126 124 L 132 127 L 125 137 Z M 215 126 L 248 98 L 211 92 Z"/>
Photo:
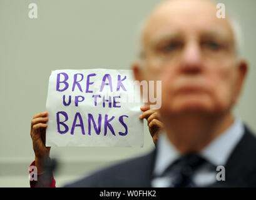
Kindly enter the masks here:
<path id="1" fill-rule="evenodd" d="M 145 27 L 143 78 L 162 81 L 161 111 L 227 111 L 238 96 L 233 33 L 208 2 L 156 9 Z"/>

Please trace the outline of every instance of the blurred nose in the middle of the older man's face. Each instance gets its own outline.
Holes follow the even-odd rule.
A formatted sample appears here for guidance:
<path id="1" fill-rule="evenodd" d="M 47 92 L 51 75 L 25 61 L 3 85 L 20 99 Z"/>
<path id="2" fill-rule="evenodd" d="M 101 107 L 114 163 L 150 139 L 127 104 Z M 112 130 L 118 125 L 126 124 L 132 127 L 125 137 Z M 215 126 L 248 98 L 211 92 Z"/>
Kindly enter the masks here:
<path id="1" fill-rule="evenodd" d="M 190 42 L 185 46 L 182 55 L 181 69 L 183 73 L 197 74 L 202 70 L 202 53 L 197 42 Z"/>

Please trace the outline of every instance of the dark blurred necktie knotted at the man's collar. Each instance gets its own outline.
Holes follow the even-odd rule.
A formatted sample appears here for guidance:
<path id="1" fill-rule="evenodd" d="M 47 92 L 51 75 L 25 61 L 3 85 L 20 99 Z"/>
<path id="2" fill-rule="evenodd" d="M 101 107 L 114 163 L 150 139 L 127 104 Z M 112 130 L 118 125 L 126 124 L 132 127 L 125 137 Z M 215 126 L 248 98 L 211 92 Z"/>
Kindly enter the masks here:
<path id="1" fill-rule="evenodd" d="M 195 171 L 206 163 L 198 154 L 187 154 L 177 159 L 163 173 L 163 176 L 172 174 L 170 187 L 195 187 L 192 181 Z"/>

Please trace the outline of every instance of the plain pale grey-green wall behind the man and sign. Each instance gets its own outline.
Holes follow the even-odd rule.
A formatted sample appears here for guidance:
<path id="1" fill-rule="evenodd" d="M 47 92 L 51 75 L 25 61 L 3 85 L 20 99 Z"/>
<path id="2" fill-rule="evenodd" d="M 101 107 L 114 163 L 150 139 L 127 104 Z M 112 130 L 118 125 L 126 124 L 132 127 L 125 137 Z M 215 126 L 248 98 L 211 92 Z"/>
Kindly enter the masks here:
<path id="1" fill-rule="evenodd" d="M 31 2 L 38 5 L 38 19 L 28 17 Z M 0 0 L 0 186 L 29 186 L 28 166 L 34 159 L 30 123 L 45 110 L 51 70 L 129 69 L 139 24 L 158 2 Z M 218 2 L 243 30 L 242 54 L 250 71 L 235 115 L 256 131 L 256 1 Z M 151 148 L 146 126 L 144 148 L 52 148 L 61 164 L 57 186 Z"/>

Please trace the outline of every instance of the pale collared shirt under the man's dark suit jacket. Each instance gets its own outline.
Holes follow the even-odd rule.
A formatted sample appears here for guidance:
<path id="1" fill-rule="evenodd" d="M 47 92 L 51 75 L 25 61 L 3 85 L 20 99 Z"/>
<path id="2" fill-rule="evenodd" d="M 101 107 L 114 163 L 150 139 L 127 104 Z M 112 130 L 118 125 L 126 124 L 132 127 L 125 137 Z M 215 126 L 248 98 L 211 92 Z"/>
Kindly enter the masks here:
<path id="1" fill-rule="evenodd" d="M 240 141 L 244 134 L 243 123 L 240 119 L 235 119 L 230 128 L 223 134 L 213 140 L 206 146 L 200 155 L 208 162 L 215 166 L 225 166 L 233 149 Z M 165 171 L 170 164 L 178 159 L 181 154 L 175 149 L 172 143 L 169 142 L 165 133 L 161 133 L 158 139 L 158 151 L 156 153 L 156 162 L 153 174 L 157 177 Z M 217 181 L 216 175 L 218 171 L 212 171 L 207 167 L 207 164 L 200 167 L 193 176 L 193 182 L 198 187 L 207 186 Z M 151 181 L 153 187 L 168 187 L 170 186 L 170 177 L 155 178 Z"/>

